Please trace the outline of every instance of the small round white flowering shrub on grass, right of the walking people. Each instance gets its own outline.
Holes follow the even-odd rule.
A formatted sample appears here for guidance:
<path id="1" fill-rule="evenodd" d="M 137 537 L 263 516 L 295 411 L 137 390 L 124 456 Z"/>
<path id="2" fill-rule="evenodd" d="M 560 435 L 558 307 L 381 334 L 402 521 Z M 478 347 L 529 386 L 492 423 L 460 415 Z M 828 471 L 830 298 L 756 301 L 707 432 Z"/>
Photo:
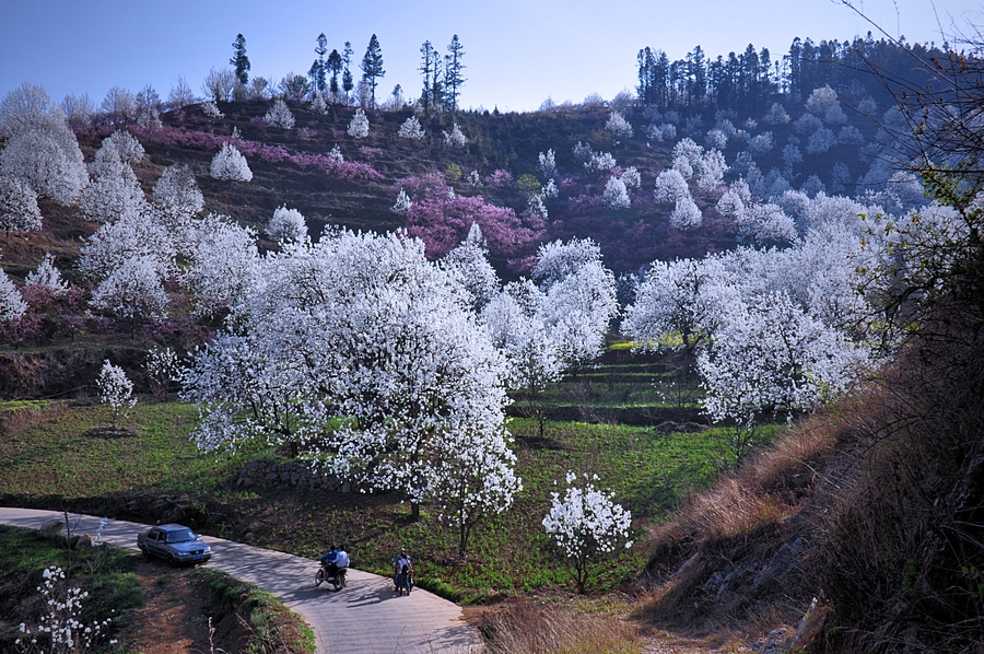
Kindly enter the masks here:
<path id="1" fill-rule="evenodd" d="M 550 493 L 552 506 L 543 518 L 547 534 L 567 557 L 579 593 L 585 592 L 591 569 L 604 556 L 619 547 L 632 547 L 632 514 L 612 501 L 613 493 L 596 489 L 591 481 L 597 479 L 597 475 L 591 480 L 585 475 L 583 486 L 577 486 L 577 475 L 567 472 L 563 500 L 560 493 Z"/>

